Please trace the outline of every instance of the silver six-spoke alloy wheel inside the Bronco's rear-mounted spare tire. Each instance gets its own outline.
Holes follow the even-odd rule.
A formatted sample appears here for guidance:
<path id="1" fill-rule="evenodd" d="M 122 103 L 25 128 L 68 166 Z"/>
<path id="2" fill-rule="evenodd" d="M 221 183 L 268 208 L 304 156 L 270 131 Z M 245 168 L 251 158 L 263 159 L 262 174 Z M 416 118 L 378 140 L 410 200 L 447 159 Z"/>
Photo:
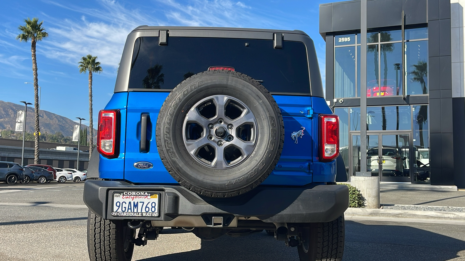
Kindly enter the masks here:
<path id="1" fill-rule="evenodd" d="M 252 154 L 257 129 L 255 116 L 246 104 L 231 96 L 213 95 L 187 111 L 182 135 L 195 160 L 225 170 Z"/>

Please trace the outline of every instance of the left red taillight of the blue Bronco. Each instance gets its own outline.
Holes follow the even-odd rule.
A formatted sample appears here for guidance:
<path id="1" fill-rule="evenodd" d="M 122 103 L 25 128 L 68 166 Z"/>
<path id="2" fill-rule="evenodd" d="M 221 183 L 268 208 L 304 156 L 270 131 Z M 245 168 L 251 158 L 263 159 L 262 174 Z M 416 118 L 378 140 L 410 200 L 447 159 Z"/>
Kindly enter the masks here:
<path id="1" fill-rule="evenodd" d="M 99 112 L 99 124 L 97 129 L 97 150 L 107 158 L 118 156 L 116 145 L 116 126 L 118 124 L 119 111 L 102 110 Z"/>

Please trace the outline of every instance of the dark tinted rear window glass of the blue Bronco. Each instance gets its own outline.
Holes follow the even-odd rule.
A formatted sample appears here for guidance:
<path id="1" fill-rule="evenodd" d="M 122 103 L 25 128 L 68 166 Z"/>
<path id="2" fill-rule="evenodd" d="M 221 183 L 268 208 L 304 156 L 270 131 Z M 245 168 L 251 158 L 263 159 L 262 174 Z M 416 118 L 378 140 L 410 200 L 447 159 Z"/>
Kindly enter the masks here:
<path id="1" fill-rule="evenodd" d="M 247 46 L 248 45 L 248 46 Z M 129 89 L 173 89 L 210 66 L 233 67 L 256 79 L 271 92 L 310 93 L 306 46 L 272 40 L 169 37 L 138 38 L 134 45 Z"/>

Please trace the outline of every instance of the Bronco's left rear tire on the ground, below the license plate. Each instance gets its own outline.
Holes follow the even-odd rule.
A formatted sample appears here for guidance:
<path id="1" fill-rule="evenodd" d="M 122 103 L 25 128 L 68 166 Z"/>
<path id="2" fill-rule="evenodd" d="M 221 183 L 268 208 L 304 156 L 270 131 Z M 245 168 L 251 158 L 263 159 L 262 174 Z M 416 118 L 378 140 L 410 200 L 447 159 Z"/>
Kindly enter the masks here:
<path id="1" fill-rule="evenodd" d="M 127 221 L 126 221 L 127 223 Z M 128 235 L 133 237 L 135 230 L 124 226 L 122 220 L 105 220 L 89 210 L 87 217 L 87 249 L 90 261 L 131 261 L 134 244 L 124 244 Z"/>

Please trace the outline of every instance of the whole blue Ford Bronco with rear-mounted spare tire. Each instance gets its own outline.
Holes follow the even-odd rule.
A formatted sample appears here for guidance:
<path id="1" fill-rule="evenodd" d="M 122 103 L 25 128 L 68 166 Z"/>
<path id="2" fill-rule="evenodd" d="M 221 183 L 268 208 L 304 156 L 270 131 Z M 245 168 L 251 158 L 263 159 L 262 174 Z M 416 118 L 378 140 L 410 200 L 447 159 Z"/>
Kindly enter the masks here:
<path id="1" fill-rule="evenodd" d="M 301 261 L 341 260 L 349 192 L 323 97 L 302 31 L 134 29 L 84 186 L 90 260 L 131 260 L 164 227 L 266 230 Z"/>

